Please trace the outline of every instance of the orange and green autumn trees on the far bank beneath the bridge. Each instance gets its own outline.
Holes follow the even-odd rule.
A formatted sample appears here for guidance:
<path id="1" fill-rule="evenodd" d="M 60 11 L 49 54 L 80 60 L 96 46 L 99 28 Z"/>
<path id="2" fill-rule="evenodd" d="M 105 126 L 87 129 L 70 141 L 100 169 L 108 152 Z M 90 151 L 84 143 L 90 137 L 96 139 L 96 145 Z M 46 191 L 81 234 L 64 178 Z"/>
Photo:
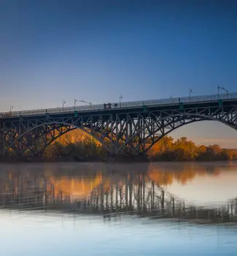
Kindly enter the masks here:
<path id="1" fill-rule="evenodd" d="M 149 142 L 147 142 L 149 146 Z M 9 151 L 10 160 L 28 159 L 15 155 Z M 44 152 L 44 159 L 58 161 L 106 161 L 109 153 L 92 136 L 79 129 L 59 137 Z M 148 151 L 147 156 L 123 155 L 117 156 L 117 161 L 215 161 L 237 159 L 237 150 L 220 148 L 218 145 L 198 146 L 186 137 L 174 140 L 172 137 L 164 137 Z"/>

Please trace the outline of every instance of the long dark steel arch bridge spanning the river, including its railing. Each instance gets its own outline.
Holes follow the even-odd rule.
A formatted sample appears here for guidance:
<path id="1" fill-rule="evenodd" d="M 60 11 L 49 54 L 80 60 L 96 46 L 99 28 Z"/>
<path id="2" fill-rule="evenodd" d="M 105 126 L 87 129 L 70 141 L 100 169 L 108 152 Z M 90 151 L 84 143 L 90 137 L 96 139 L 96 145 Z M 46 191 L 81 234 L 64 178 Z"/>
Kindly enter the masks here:
<path id="1" fill-rule="evenodd" d="M 0 113 L 0 155 L 40 156 L 73 129 L 111 154 L 144 154 L 174 129 L 204 120 L 237 129 L 237 93 Z"/>

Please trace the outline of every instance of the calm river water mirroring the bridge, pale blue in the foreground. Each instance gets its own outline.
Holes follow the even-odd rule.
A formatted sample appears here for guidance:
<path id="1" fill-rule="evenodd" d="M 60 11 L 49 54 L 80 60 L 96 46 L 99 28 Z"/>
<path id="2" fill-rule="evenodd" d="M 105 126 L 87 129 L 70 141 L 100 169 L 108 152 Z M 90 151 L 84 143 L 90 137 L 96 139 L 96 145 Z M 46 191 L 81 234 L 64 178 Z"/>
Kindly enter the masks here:
<path id="1" fill-rule="evenodd" d="M 0 164 L 1 255 L 236 255 L 237 163 Z"/>

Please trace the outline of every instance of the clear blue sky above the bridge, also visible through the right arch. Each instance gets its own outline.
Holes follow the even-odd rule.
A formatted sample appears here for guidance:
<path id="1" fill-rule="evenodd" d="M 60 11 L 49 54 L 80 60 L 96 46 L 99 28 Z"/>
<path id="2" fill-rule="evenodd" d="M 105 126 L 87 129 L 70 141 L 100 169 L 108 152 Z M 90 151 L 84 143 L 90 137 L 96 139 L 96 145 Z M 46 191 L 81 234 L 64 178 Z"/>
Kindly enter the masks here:
<path id="1" fill-rule="evenodd" d="M 0 111 L 237 92 L 236 27 L 230 0 L 0 0 Z M 221 124 L 180 132 L 237 148 Z"/>

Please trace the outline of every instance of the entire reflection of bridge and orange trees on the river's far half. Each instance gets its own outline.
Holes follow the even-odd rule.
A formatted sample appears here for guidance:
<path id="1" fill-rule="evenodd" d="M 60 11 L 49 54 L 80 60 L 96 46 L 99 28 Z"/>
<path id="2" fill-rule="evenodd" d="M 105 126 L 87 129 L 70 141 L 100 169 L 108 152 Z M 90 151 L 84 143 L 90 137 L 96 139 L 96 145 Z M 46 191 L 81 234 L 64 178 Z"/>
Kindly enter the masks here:
<path id="1" fill-rule="evenodd" d="M 135 214 L 198 223 L 237 222 L 236 176 L 236 163 L 0 165 L 0 206 L 105 218 Z M 207 198 L 209 203 L 203 206 L 185 198 L 195 197 L 193 187 L 197 197 L 206 196 L 205 183 L 209 192 L 221 197 L 219 204 Z"/>

